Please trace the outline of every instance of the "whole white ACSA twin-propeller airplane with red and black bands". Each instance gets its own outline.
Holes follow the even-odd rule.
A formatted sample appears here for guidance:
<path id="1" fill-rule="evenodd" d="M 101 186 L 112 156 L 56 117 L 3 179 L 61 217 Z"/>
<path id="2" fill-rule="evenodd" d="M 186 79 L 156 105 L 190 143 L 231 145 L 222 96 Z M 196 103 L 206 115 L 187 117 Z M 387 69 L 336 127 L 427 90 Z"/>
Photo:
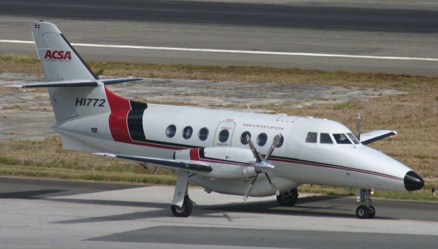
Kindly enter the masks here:
<path id="1" fill-rule="evenodd" d="M 296 204 L 302 184 L 351 187 L 362 202 L 356 210 L 360 219 L 376 215 L 374 189 L 424 187 L 411 168 L 367 146 L 395 131 L 358 138 L 325 118 L 131 101 L 106 86 L 140 78 L 100 79 L 53 23 L 34 21 L 30 27 L 44 81 L 12 87 L 48 89 L 56 121 L 52 129 L 65 149 L 175 172 L 170 209 L 176 217 L 192 213 L 189 181 L 206 192 L 245 200 L 275 195 L 287 207 Z"/>

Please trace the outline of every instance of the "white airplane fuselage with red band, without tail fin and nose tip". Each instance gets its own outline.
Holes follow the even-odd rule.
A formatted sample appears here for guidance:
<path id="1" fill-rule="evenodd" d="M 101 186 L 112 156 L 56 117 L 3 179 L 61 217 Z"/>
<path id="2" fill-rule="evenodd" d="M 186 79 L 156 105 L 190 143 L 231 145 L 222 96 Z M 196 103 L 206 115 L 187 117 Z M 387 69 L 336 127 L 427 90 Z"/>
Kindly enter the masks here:
<path id="1" fill-rule="evenodd" d="M 112 105 L 112 101 L 108 102 Z M 332 120 L 153 104 L 141 107 L 136 117 L 129 118 L 128 112 L 129 109 L 125 109 L 117 114 L 69 120 L 56 124 L 53 129 L 62 134 L 66 148 L 77 150 L 83 146 L 83 150 L 166 159 L 172 159 L 175 151 L 188 148 L 248 148 L 247 144 L 242 144 L 242 133 L 246 131 L 254 140 L 266 133 L 264 146 L 255 143 L 259 153 L 264 155 L 272 138 L 281 133 L 283 144 L 274 150 L 270 161 L 275 166 L 274 181 L 284 191 L 303 183 L 403 191 L 406 190 L 404 176 L 411 171 L 363 144 L 321 144 L 319 139 L 316 143 L 305 142 L 309 132 L 351 133 Z M 170 125 L 176 127 L 173 137 L 166 136 Z M 188 139 L 183 137 L 185 127 L 192 127 Z M 91 132 L 92 128 L 97 128 L 97 132 Z M 204 141 L 199 138 L 203 128 L 208 130 Z M 229 137 L 220 142 L 219 133 L 223 129 L 229 131 Z M 230 170 L 230 167 L 242 174 L 229 179 L 216 177 L 217 170 Z M 251 180 L 248 176 L 252 171 L 247 167 L 250 166 L 214 168 L 213 172 L 197 173 L 190 180 L 214 192 L 243 195 Z M 255 184 L 250 195 L 272 194 L 265 178 Z"/>

